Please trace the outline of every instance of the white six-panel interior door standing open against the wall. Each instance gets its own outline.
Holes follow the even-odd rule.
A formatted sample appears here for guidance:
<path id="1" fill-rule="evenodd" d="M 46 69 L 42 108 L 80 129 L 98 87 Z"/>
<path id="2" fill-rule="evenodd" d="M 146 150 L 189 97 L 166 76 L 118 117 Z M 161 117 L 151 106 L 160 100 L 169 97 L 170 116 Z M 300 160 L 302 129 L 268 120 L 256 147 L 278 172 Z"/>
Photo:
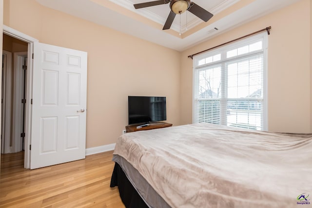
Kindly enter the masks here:
<path id="1" fill-rule="evenodd" d="M 34 44 L 30 169 L 85 158 L 87 53 Z"/>

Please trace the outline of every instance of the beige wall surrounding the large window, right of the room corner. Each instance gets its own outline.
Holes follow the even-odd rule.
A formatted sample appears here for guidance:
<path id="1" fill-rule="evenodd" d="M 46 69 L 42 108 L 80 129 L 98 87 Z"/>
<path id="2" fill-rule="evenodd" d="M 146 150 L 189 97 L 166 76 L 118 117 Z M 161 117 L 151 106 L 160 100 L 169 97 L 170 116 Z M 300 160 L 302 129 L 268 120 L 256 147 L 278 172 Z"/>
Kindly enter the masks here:
<path id="1" fill-rule="evenodd" d="M 181 124 L 192 123 L 193 72 L 188 55 L 272 26 L 268 38 L 269 131 L 311 132 L 310 8 L 310 0 L 301 0 L 184 51 Z"/>

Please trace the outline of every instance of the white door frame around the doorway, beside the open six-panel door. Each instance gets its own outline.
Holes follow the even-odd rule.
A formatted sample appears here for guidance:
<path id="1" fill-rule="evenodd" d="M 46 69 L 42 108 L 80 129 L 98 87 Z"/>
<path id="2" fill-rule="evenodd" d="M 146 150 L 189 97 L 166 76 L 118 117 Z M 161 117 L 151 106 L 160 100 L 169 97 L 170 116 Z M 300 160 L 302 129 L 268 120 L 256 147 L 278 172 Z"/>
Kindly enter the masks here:
<path id="1" fill-rule="evenodd" d="M 25 153 L 24 153 L 24 168 L 30 169 L 30 144 L 31 144 L 31 119 L 32 119 L 32 86 L 33 86 L 33 53 L 34 43 L 39 42 L 38 39 L 32 38 L 13 28 L 3 25 L 3 34 L 13 38 L 20 39 L 28 44 L 27 50 L 27 85 L 26 85 L 26 110 L 25 110 Z M 0 80 L 1 82 L 1 80 Z"/>

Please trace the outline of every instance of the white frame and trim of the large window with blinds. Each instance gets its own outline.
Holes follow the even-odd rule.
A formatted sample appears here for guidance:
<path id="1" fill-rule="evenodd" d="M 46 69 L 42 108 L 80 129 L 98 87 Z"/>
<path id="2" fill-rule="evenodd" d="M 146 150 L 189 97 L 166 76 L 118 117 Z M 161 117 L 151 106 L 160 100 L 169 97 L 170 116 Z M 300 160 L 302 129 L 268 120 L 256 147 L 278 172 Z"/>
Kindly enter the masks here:
<path id="1" fill-rule="evenodd" d="M 252 43 L 256 43 L 257 40 L 262 40 L 262 49 L 261 50 L 256 50 L 256 51 L 252 51 L 252 52 L 248 52 L 245 54 L 241 54 L 241 55 L 237 55 L 234 57 L 226 57 L 227 52 L 237 49 L 239 47 L 245 46 L 247 44 L 252 44 Z M 221 59 L 214 61 L 214 62 L 209 62 L 209 63 L 204 63 L 204 64 L 200 64 L 199 65 L 199 61 L 202 61 L 202 59 L 204 58 L 210 58 L 213 57 L 215 55 L 221 54 Z M 195 106 L 195 102 L 196 102 L 196 97 L 195 97 L 195 89 L 196 89 L 196 80 L 195 80 L 195 73 L 197 70 L 200 69 L 204 69 L 204 68 L 208 68 L 208 67 L 212 67 L 215 66 L 217 64 L 228 64 L 231 61 L 234 61 L 235 59 L 241 59 L 243 57 L 252 57 L 255 56 L 256 54 L 263 54 L 263 108 L 262 108 L 262 121 L 263 121 L 263 125 L 262 125 L 262 131 L 268 131 L 268 34 L 266 32 L 248 37 L 248 38 L 244 38 L 242 40 L 238 40 L 234 43 L 231 44 L 227 44 L 225 46 L 216 48 L 214 50 L 196 55 L 193 57 L 193 108 L 192 108 L 192 119 L 193 119 L 193 123 L 195 123 L 195 110 L 196 110 L 196 106 Z M 223 71 L 223 72 L 222 72 Z M 227 76 L 225 75 L 225 73 L 227 70 L 221 69 L 221 76 Z M 198 82 L 197 82 L 198 83 Z M 223 85 L 224 87 L 224 81 L 223 83 L 221 83 L 221 86 Z M 198 89 L 198 87 L 197 87 Z M 224 93 L 227 92 L 227 89 L 225 91 L 223 91 Z M 197 92 L 198 93 L 198 92 Z M 221 101 L 227 101 L 227 100 L 239 100 L 240 98 L 229 98 L 228 95 L 224 96 L 221 95 L 221 97 L 216 98 L 218 100 Z M 220 104 L 220 108 L 222 108 L 221 104 Z M 226 116 L 226 114 L 225 114 Z M 221 120 L 226 119 L 226 117 L 222 118 L 222 116 L 220 116 L 220 124 L 222 124 Z M 224 125 L 224 123 L 223 123 Z M 225 123 L 225 125 L 227 125 L 227 123 Z"/>

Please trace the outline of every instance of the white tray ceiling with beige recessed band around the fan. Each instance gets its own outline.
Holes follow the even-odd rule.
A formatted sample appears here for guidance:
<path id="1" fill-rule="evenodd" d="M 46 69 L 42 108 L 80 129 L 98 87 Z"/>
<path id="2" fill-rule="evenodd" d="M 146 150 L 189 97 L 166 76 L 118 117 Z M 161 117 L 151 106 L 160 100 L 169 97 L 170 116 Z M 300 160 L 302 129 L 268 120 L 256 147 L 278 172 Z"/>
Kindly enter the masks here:
<path id="1" fill-rule="evenodd" d="M 43 6 L 177 51 L 183 51 L 196 43 L 213 38 L 238 25 L 267 15 L 299 0 L 193 0 L 197 5 L 213 13 L 214 17 L 208 22 L 204 22 L 192 13 L 185 12 L 181 17 L 176 15 L 171 29 L 165 31 L 162 30 L 162 26 L 170 13 L 169 4 L 142 9 L 135 9 L 133 6 L 135 3 L 153 0 L 37 1 Z M 222 11 L 225 13 L 227 12 L 226 9 L 233 7 L 237 8 L 234 12 L 226 16 L 222 15 Z M 266 26 L 270 26 L 270 22 Z M 214 28 L 218 28 L 218 30 Z M 181 35 L 179 35 L 180 31 Z"/>

